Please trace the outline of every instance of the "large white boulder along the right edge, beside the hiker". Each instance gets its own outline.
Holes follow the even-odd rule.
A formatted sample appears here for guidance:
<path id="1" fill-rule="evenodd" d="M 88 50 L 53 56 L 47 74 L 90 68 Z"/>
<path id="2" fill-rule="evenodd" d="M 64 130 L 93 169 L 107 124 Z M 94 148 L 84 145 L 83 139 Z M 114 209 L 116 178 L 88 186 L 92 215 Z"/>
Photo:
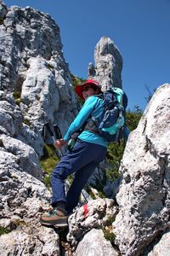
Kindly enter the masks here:
<path id="1" fill-rule="evenodd" d="M 114 223 L 122 255 L 138 256 L 170 228 L 170 84 L 156 90 L 122 159 Z"/>

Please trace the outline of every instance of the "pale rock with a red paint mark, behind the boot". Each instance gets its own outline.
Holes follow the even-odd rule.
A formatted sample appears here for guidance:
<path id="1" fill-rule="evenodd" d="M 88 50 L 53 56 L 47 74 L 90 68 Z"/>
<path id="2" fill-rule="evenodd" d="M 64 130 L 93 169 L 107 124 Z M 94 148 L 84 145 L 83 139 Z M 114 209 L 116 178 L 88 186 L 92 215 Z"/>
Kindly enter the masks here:
<path id="1" fill-rule="evenodd" d="M 107 198 L 89 201 L 86 206 L 87 208 L 83 206 L 78 208 L 69 218 L 67 241 L 73 247 L 77 246 L 77 242 L 89 230 L 110 225 L 111 219 L 117 213 L 117 207 L 114 201 Z"/>

